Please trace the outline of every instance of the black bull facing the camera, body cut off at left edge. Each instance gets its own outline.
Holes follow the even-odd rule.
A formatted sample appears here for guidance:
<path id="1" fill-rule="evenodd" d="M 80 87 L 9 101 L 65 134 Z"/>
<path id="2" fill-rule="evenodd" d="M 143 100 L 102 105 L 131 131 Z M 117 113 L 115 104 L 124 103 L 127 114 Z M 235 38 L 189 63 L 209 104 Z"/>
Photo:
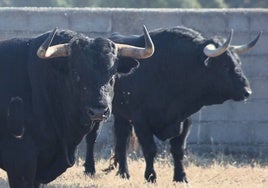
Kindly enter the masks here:
<path id="1" fill-rule="evenodd" d="M 115 77 L 138 67 L 146 47 L 56 29 L 0 42 L 0 168 L 12 188 L 39 187 L 74 164 L 95 122 L 111 114 Z"/>

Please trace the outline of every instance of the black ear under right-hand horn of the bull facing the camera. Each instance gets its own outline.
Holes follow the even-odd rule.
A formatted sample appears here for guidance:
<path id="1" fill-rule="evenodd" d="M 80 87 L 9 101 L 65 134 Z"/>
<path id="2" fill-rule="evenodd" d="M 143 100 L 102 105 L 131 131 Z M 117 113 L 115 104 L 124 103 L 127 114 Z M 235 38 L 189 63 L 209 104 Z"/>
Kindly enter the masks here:
<path id="1" fill-rule="evenodd" d="M 131 74 L 139 66 L 140 63 L 135 59 L 120 57 L 118 59 L 117 72 L 120 75 L 128 75 Z"/>

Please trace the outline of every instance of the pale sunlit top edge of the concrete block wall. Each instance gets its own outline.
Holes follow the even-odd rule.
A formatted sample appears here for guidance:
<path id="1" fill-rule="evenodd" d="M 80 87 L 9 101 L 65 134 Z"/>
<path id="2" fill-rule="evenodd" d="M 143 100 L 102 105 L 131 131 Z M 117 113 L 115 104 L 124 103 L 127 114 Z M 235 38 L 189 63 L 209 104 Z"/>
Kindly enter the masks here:
<path id="1" fill-rule="evenodd" d="M 101 12 L 265 12 L 264 8 L 230 8 L 230 9 L 182 9 L 182 8 L 65 8 L 65 7 L 0 7 L 0 11 L 101 11 Z"/>

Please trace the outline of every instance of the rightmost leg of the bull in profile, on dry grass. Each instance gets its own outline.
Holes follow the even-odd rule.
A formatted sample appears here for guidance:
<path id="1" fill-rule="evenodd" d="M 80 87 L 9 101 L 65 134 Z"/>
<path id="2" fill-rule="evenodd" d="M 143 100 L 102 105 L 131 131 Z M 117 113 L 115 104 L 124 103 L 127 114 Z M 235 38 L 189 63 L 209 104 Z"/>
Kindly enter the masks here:
<path id="1" fill-rule="evenodd" d="M 190 118 L 184 120 L 182 133 L 179 136 L 174 137 L 170 140 L 171 145 L 170 151 L 174 160 L 173 181 L 176 182 L 188 183 L 183 166 L 183 156 L 186 148 L 185 147 L 186 139 L 190 132 L 191 124 L 192 122 Z"/>

